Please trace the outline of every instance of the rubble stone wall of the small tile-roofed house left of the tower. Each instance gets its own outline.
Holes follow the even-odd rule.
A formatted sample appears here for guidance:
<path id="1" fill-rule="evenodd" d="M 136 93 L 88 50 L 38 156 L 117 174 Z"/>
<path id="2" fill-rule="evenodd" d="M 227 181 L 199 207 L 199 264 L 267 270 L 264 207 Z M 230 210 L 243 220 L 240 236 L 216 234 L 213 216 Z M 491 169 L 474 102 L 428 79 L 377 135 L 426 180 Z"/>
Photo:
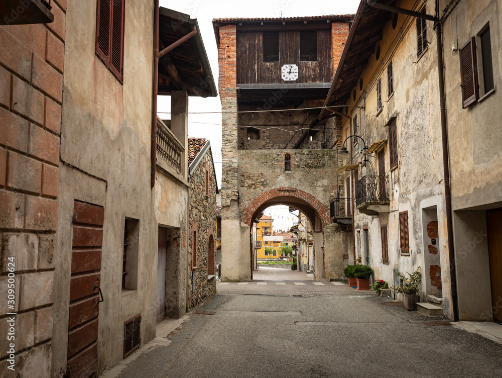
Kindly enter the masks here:
<path id="1" fill-rule="evenodd" d="M 206 195 L 206 170 L 208 172 L 209 187 Z M 200 305 L 209 298 L 216 289 L 216 277 L 208 279 L 209 239 L 215 242 L 214 225 L 216 222 L 216 177 L 214 176 L 213 159 L 209 149 L 197 168 L 189 177 L 189 237 L 188 245 L 193 243 L 194 224 L 197 226 L 197 268 L 188 276 L 187 311 Z M 213 247 L 214 248 L 214 247 Z M 212 264 L 216 264 L 213 254 Z M 189 251 L 189 266 L 193 266 L 192 250 Z M 195 284 L 194 284 L 195 278 Z"/>

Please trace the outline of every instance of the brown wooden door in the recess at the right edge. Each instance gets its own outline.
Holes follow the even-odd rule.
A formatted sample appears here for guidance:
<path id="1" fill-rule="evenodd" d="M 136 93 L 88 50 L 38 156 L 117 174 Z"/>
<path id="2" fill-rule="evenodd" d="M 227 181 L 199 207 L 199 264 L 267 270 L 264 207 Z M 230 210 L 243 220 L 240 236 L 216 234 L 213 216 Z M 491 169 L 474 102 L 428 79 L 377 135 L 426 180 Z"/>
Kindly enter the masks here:
<path id="1" fill-rule="evenodd" d="M 486 214 L 493 320 L 502 324 L 502 210 Z"/>

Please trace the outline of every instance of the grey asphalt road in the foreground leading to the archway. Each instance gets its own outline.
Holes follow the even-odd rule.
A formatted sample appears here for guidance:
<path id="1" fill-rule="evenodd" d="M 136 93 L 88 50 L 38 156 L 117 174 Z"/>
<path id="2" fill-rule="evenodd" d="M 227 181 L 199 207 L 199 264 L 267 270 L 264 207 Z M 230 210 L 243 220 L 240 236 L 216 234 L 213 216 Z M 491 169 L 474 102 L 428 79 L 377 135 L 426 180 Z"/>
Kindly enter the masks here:
<path id="1" fill-rule="evenodd" d="M 118 376 L 502 376 L 502 345 L 426 325 L 444 318 L 386 305 L 390 298 L 350 293 L 216 294 L 198 309 L 214 315 L 191 315 L 169 345 L 139 354 Z"/>

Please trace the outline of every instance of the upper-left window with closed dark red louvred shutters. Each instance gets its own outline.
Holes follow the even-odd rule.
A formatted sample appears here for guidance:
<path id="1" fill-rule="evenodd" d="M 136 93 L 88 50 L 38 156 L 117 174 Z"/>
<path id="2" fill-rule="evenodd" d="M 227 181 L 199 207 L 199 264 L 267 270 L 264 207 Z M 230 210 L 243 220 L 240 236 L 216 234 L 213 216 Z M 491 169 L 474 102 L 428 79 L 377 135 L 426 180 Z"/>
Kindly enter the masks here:
<path id="1" fill-rule="evenodd" d="M 125 0 L 97 0 L 96 54 L 122 82 Z"/>

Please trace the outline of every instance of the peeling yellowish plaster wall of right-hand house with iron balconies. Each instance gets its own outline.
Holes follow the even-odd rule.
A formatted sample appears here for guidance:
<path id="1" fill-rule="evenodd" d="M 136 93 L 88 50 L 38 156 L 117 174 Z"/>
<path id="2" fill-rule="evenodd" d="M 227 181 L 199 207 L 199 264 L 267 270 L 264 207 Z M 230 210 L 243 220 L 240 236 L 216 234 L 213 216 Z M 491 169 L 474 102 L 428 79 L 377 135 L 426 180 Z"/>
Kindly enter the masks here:
<path id="1" fill-rule="evenodd" d="M 434 13 L 434 2 L 425 2 L 426 12 Z M 403 1 L 399 7 L 414 9 L 414 3 Z M 416 7 L 417 9 L 419 7 Z M 421 8 L 421 7 L 420 7 Z M 439 112 L 439 87 L 435 32 L 432 23 L 427 22 L 429 45 L 422 56 L 417 57 L 416 19 L 398 15 L 396 27 L 388 22 L 383 28 L 383 38 L 375 44 L 380 47 L 380 57 L 373 53 L 368 67 L 361 73 L 363 86 L 353 88 L 356 99 L 347 101 L 349 115 L 357 114 L 357 134 L 362 136 L 366 146 L 389 138 L 388 125 L 395 120 L 397 125 L 398 166 L 391 170 L 389 142 L 380 149 L 385 152 L 385 171 L 389 175 L 388 210 L 378 216 L 368 216 L 355 211 L 355 229 L 368 226 L 369 249 L 374 279 L 384 279 L 392 285 L 394 269 L 402 273 L 420 268 L 424 277 L 422 300 L 425 301 L 425 276 L 429 266 L 425 266 L 424 253 L 428 245 L 424 242 L 423 209 L 436 207 L 439 223 L 438 248 L 442 262 L 444 313 L 453 316 L 451 291 L 449 287 L 449 259 L 447 255 L 446 219 L 444 213 L 443 163 L 441 145 L 441 125 Z M 392 61 L 394 92 L 388 91 L 387 67 Z M 377 107 L 376 85 L 381 79 L 382 109 Z M 359 80 L 358 80 L 359 82 Z M 351 91 L 352 93 L 352 91 Z M 359 106 L 364 109 L 352 108 Z M 350 111 L 353 109 L 353 111 Z M 348 135 L 349 123 L 343 118 L 344 132 Z M 347 145 L 352 145 L 347 141 Z M 362 161 L 357 142 L 353 147 L 356 161 Z M 368 162 L 361 164 L 358 177 L 378 175 L 378 152 L 368 156 Z M 408 211 L 410 254 L 400 253 L 399 213 Z M 382 262 L 381 227 L 387 226 L 389 263 Z M 360 248 L 364 241 L 360 238 Z M 351 253 L 351 251 L 349 251 Z"/>

